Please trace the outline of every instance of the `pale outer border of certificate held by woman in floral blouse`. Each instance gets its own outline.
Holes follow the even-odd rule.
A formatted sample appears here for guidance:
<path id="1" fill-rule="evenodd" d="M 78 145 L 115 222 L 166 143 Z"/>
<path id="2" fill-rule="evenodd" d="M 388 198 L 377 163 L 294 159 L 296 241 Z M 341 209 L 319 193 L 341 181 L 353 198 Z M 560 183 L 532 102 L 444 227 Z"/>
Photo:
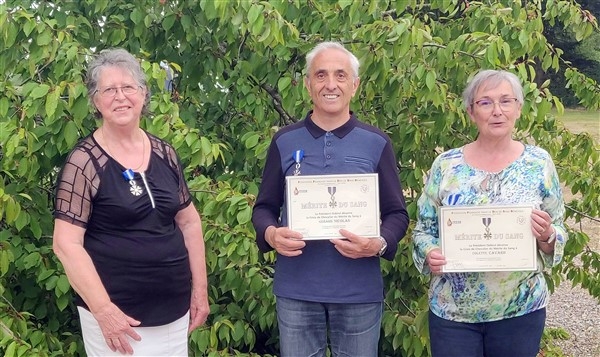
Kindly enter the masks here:
<path id="1" fill-rule="evenodd" d="M 444 230 L 442 229 L 444 222 L 446 221 L 445 219 L 445 213 L 447 213 L 446 211 L 450 211 L 450 210 L 490 210 L 490 209 L 509 209 L 509 208 L 517 208 L 517 209 L 523 209 L 523 208 L 527 208 L 527 209 L 533 209 L 532 205 L 469 205 L 469 206 L 442 206 L 438 208 L 438 233 L 440 236 L 440 247 L 442 249 L 442 254 L 445 255 L 445 249 L 444 249 L 444 237 L 443 237 L 443 232 Z M 448 218 L 448 217 L 446 217 Z M 461 268 L 453 268 L 453 269 L 448 269 L 446 268 L 446 266 L 442 266 L 442 272 L 443 273 L 463 273 L 463 272 L 503 272 L 503 271 L 535 271 L 538 269 L 538 249 L 537 249 L 537 244 L 536 244 L 536 240 L 533 237 L 533 233 L 531 233 L 531 254 L 532 256 L 532 260 L 531 260 L 531 265 L 527 266 L 527 267 L 521 267 L 521 268 L 485 268 L 485 267 L 467 267 L 464 269 Z"/>

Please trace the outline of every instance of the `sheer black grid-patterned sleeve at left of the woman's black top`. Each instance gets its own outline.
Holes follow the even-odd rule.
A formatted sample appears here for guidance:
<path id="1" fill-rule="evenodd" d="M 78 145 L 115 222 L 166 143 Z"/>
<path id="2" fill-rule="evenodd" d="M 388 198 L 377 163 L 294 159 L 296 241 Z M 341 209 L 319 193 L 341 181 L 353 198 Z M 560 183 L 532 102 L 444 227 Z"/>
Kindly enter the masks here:
<path id="1" fill-rule="evenodd" d="M 106 156 L 90 137 L 75 146 L 58 176 L 54 218 L 87 227 L 104 164 Z"/>

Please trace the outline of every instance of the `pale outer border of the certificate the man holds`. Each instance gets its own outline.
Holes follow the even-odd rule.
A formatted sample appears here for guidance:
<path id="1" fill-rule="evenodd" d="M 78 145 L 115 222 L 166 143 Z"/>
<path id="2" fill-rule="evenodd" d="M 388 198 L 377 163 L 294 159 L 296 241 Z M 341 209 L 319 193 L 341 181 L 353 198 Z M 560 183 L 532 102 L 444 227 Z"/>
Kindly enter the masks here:
<path id="1" fill-rule="evenodd" d="M 293 187 L 293 183 L 299 180 L 329 180 L 329 179 L 335 179 L 335 178 L 353 178 L 353 177 L 360 177 L 360 178 L 372 178 L 373 180 L 373 184 L 375 187 L 375 216 L 378 218 L 379 222 L 378 224 L 375 225 L 375 231 L 373 232 L 373 235 L 361 235 L 364 237 L 379 237 L 380 234 L 380 229 L 381 229 L 381 214 L 380 214 L 380 207 L 379 207 L 379 174 L 376 172 L 372 172 L 372 173 L 364 173 L 364 174 L 333 174 L 333 175 L 298 175 L 298 176 L 286 176 L 285 177 L 285 195 L 286 195 L 286 212 L 287 212 L 287 223 L 288 223 L 288 228 L 293 230 L 293 227 L 291 225 L 292 222 L 292 212 L 290 210 L 290 201 L 291 201 L 291 195 L 292 195 L 292 187 Z M 354 233 L 354 232 L 353 232 Z M 304 236 L 302 239 L 304 240 L 319 240 L 319 239 L 344 239 L 345 237 L 342 235 L 337 235 L 337 236 Z"/>

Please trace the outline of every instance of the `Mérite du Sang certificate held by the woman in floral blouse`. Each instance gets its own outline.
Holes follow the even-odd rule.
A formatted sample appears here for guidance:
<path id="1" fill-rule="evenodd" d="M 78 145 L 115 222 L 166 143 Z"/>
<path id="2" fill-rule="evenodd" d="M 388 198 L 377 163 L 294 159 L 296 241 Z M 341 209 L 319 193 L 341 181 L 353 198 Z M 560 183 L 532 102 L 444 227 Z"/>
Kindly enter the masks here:
<path id="1" fill-rule="evenodd" d="M 537 269 L 532 206 L 444 206 L 439 232 L 447 272 Z"/>

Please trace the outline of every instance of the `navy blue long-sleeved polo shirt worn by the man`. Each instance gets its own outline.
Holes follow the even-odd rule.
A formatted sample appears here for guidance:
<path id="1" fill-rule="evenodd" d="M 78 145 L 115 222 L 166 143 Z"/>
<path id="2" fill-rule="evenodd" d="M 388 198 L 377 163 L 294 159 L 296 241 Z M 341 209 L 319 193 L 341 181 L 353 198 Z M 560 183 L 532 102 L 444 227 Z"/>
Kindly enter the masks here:
<path id="1" fill-rule="evenodd" d="M 293 175 L 294 152 L 303 150 L 301 175 L 378 173 L 384 258 L 393 259 L 409 219 L 389 137 L 352 113 L 332 131 L 318 127 L 311 114 L 282 128 L 271 142 L 252 213 L 258 247 L 272 249 L 264 237 L 268 226 L 287 225 L 285 177 Z M 384 296 L 379 258 L 346 258 L 328 240 L 307 241 L 297 257 L 278 255 L 273 289 L 277 296 L 325 303 L 379 302 Z"/>

